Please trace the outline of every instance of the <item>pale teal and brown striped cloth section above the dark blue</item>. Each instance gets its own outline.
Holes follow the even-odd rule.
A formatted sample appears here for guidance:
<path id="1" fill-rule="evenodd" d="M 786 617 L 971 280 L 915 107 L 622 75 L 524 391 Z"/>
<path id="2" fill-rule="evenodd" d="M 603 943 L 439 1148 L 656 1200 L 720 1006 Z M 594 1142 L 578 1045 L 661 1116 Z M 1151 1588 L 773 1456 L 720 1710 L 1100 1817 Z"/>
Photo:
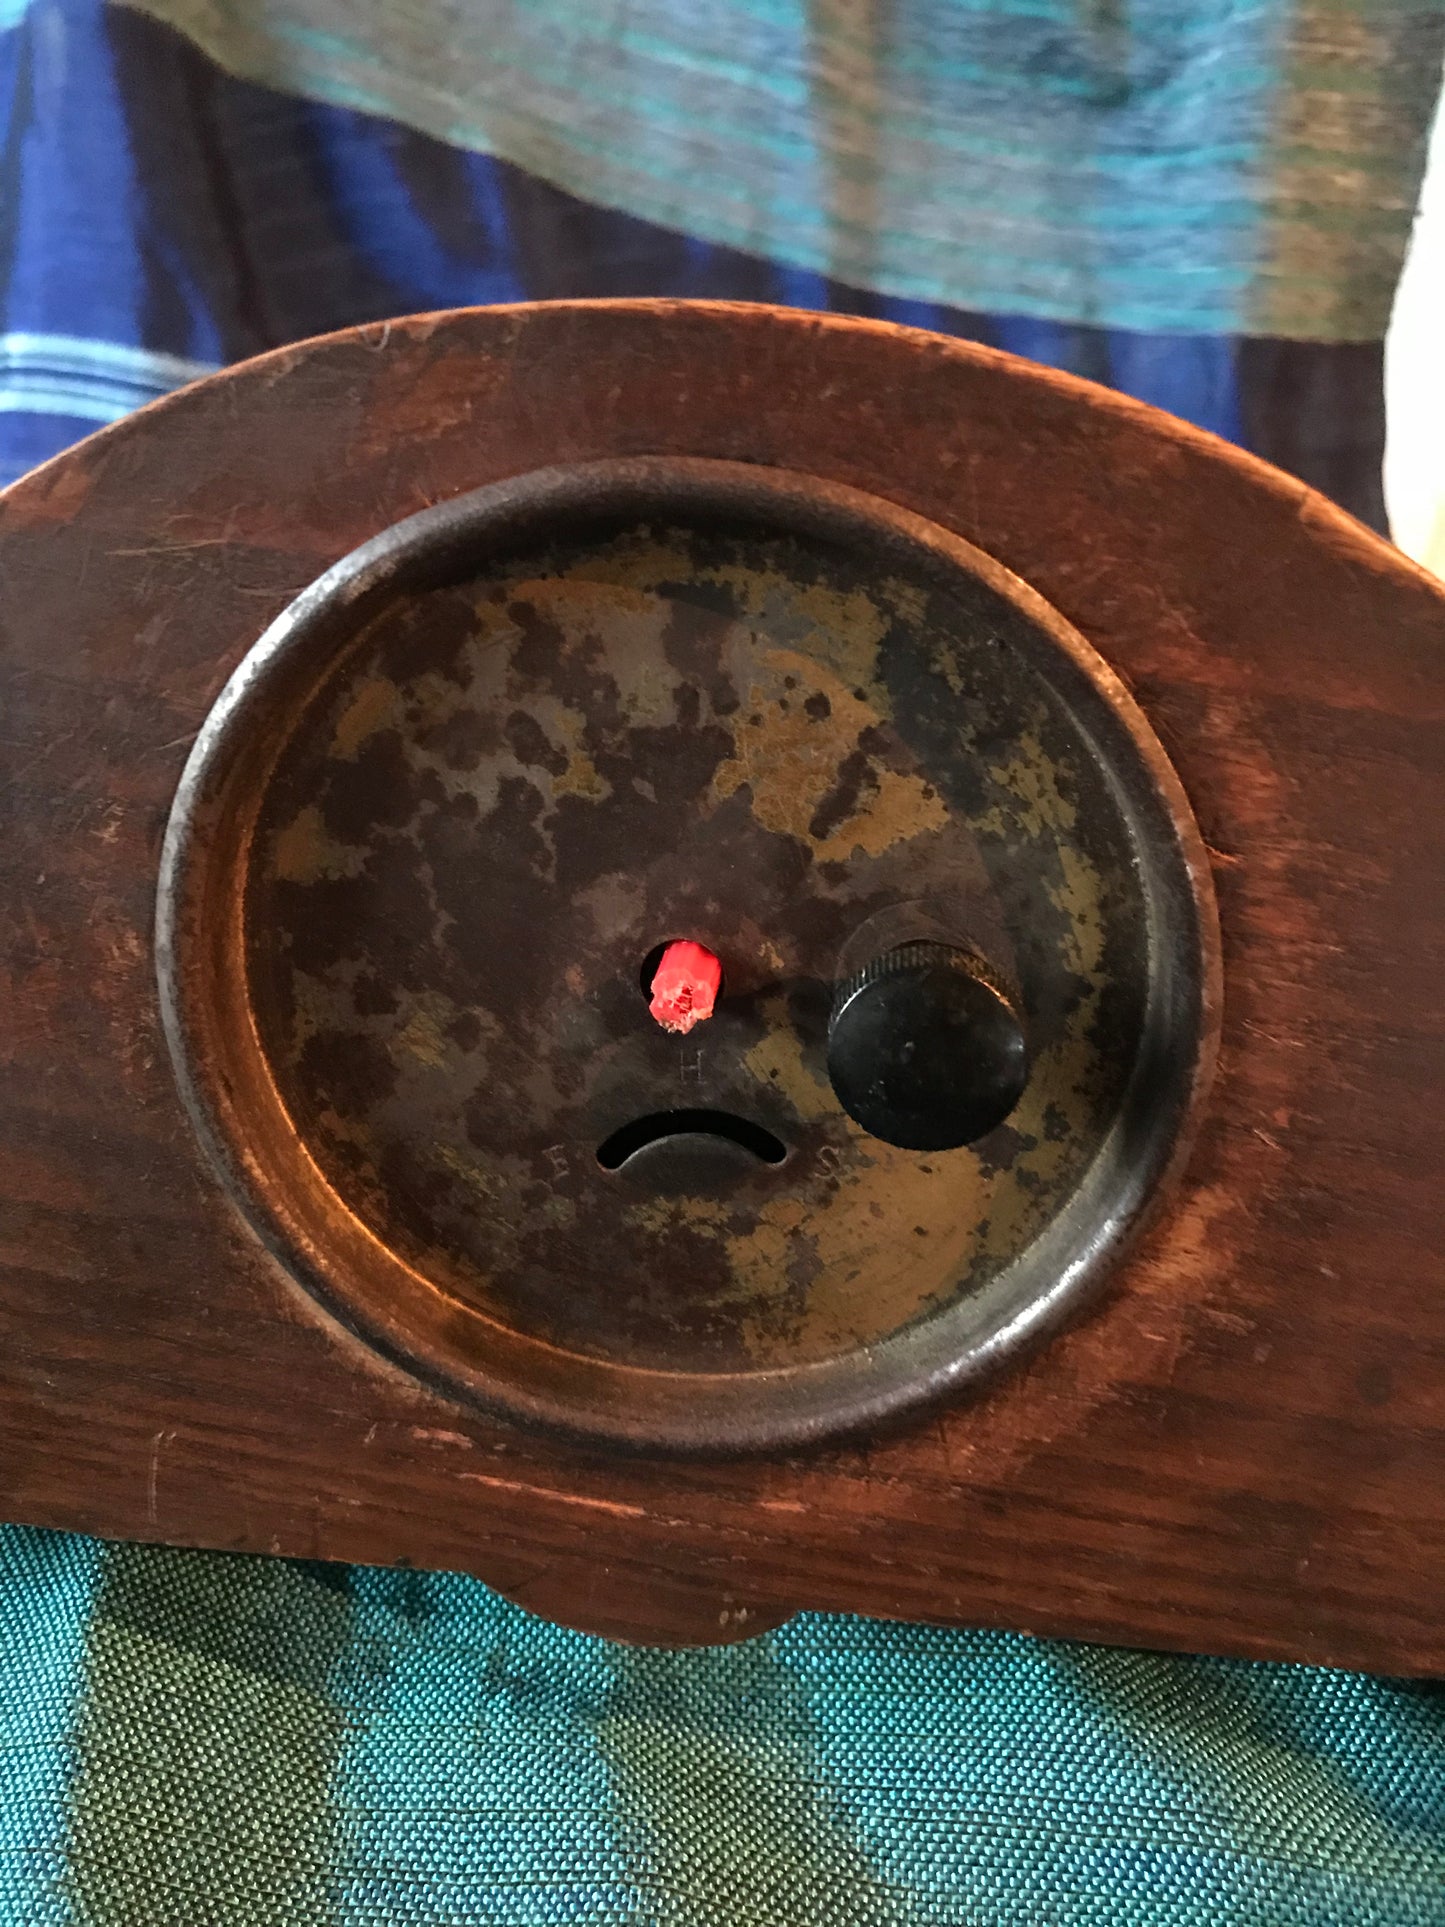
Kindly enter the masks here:
<path id="1" fill-rule="evenodd" d="M 1445 0 L 131 0 L 231 73 L 896 297 L 1385 331 Z"/>

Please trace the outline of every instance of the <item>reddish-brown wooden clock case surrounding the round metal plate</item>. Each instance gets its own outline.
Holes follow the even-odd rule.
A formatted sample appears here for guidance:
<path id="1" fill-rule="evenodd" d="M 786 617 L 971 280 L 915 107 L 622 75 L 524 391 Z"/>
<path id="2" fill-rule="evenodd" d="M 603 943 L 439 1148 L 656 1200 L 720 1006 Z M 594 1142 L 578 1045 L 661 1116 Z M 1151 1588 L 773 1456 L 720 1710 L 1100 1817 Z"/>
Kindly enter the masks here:
<path id="1" fill-rule="evenodd" d="M 1127 680 L 1216 867 L 1223 1052 L 1096 1312 L 942 1418 L 609 1457 L 380 1362 L 208 1175 L 160 1039 L 160 836 L 266 622 L 399 516 L 624 453 L 933 516 Z M 568 1624 L 796 1609 L 1445 1671 L 1445 592 L 1135 403 L 867 322 L 663 303 L 368 328 L 0 497 L 0 1515 L 478 1572 Z"/>

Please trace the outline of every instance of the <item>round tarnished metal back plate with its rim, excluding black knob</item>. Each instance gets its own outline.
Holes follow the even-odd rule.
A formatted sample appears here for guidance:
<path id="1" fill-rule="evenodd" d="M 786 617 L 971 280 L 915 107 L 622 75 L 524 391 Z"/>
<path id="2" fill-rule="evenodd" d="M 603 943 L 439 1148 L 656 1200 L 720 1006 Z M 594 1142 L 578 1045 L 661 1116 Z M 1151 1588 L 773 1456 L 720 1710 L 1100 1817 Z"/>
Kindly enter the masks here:
<path id="1" fill-rule="evenodd" d="M 832 981 L 919 933 L 1010 977 L 1033 1066 L 934 1154 L 825 1073 Z M 726 971 L 686 1039 L 640 987 L 672 937 Z M 1218 1019 L 1198 832 L 1083 638 L 890 503 L 688 459 L 484 488 L 306 590 L 187 765 L 158 967 L 202 1141 L 312 1293 L 670 1449 L 855 1428 L 1079 1303 Z M 609 1156 L 659 1114 L 701 1129 Z"/>

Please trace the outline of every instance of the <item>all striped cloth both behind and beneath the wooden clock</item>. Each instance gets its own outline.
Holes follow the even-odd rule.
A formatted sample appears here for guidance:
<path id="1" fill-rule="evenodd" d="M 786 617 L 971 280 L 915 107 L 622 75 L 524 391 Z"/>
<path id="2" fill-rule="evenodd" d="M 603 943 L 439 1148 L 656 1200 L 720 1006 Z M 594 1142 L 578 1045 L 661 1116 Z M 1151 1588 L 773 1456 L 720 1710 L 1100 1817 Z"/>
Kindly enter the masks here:
<path id="1" fill-rule="evenodd" d="M 0 0 L 0 478 L 349 322 L 717 295 L 1090 374 L 1379 524 L 1443 19 Z M 622 1921 L 1445 1927 L 1445 1688 L 819 1617 L 630 1651 L 0 1528 L 0 1927 Z"/>

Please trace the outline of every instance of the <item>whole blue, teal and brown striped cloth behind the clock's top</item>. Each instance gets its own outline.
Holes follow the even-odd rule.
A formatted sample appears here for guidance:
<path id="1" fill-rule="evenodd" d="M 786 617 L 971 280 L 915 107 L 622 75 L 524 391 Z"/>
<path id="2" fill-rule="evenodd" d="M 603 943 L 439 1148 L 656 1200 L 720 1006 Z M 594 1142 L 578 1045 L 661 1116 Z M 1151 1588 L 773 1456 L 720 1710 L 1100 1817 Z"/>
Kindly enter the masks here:
<path id="1" fill-rule="evenodd" d="M 699 295 L 1069 368 L 1383 530 L 1381 343 L 1445 0 L 890 0 L 882 21 L 877 0 L 0 0 L 0 482 L 198 366 L 353 322 Z M 726 114 L 699 121 L 719 67 Z M 749 183 L 746 220 L 719 183 Z"/>

